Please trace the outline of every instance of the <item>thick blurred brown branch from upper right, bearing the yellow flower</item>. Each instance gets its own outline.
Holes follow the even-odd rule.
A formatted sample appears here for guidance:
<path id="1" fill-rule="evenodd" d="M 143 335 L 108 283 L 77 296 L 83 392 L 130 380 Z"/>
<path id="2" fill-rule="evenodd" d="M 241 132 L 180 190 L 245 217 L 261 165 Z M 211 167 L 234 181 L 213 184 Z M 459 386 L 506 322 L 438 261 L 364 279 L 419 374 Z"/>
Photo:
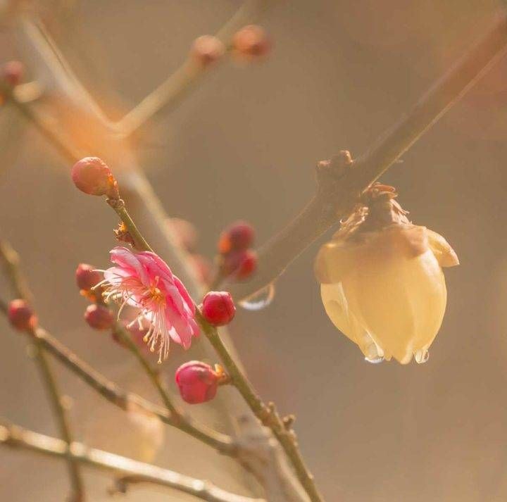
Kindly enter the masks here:
<path id="1" fill-rule="evenodd" d="M 503 12 L 480 42 L 438 80 L 406 115 L 377 139 L 351 169 L 339 158 L 318 166 L 318 188 L 313 199 L 287 227 L 259 250 L 258 271 L 243 284 L 227 284 L 234 298 L 244 299 L 272 283 L 287 265 L 339 223 L 357 197 L 444 115 L 505 54 L 507 17 Z M 326 174 L 322 176 L 323 170 Z"/>

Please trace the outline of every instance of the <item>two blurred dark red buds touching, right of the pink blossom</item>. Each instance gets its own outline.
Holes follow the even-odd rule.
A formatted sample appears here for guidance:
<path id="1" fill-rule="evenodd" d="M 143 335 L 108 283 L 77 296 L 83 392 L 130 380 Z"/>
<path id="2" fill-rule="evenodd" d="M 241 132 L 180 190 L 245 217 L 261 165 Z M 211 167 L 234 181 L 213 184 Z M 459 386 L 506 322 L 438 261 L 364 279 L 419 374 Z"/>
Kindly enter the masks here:
<path id="1" fill-rule="evenodd" d="M 255 232 L 238 221 L 227 227 L 218 240 L 218 274 L 234 280 L 248 279 L 257 268 L 257 253 L 251 249 Z"/>

